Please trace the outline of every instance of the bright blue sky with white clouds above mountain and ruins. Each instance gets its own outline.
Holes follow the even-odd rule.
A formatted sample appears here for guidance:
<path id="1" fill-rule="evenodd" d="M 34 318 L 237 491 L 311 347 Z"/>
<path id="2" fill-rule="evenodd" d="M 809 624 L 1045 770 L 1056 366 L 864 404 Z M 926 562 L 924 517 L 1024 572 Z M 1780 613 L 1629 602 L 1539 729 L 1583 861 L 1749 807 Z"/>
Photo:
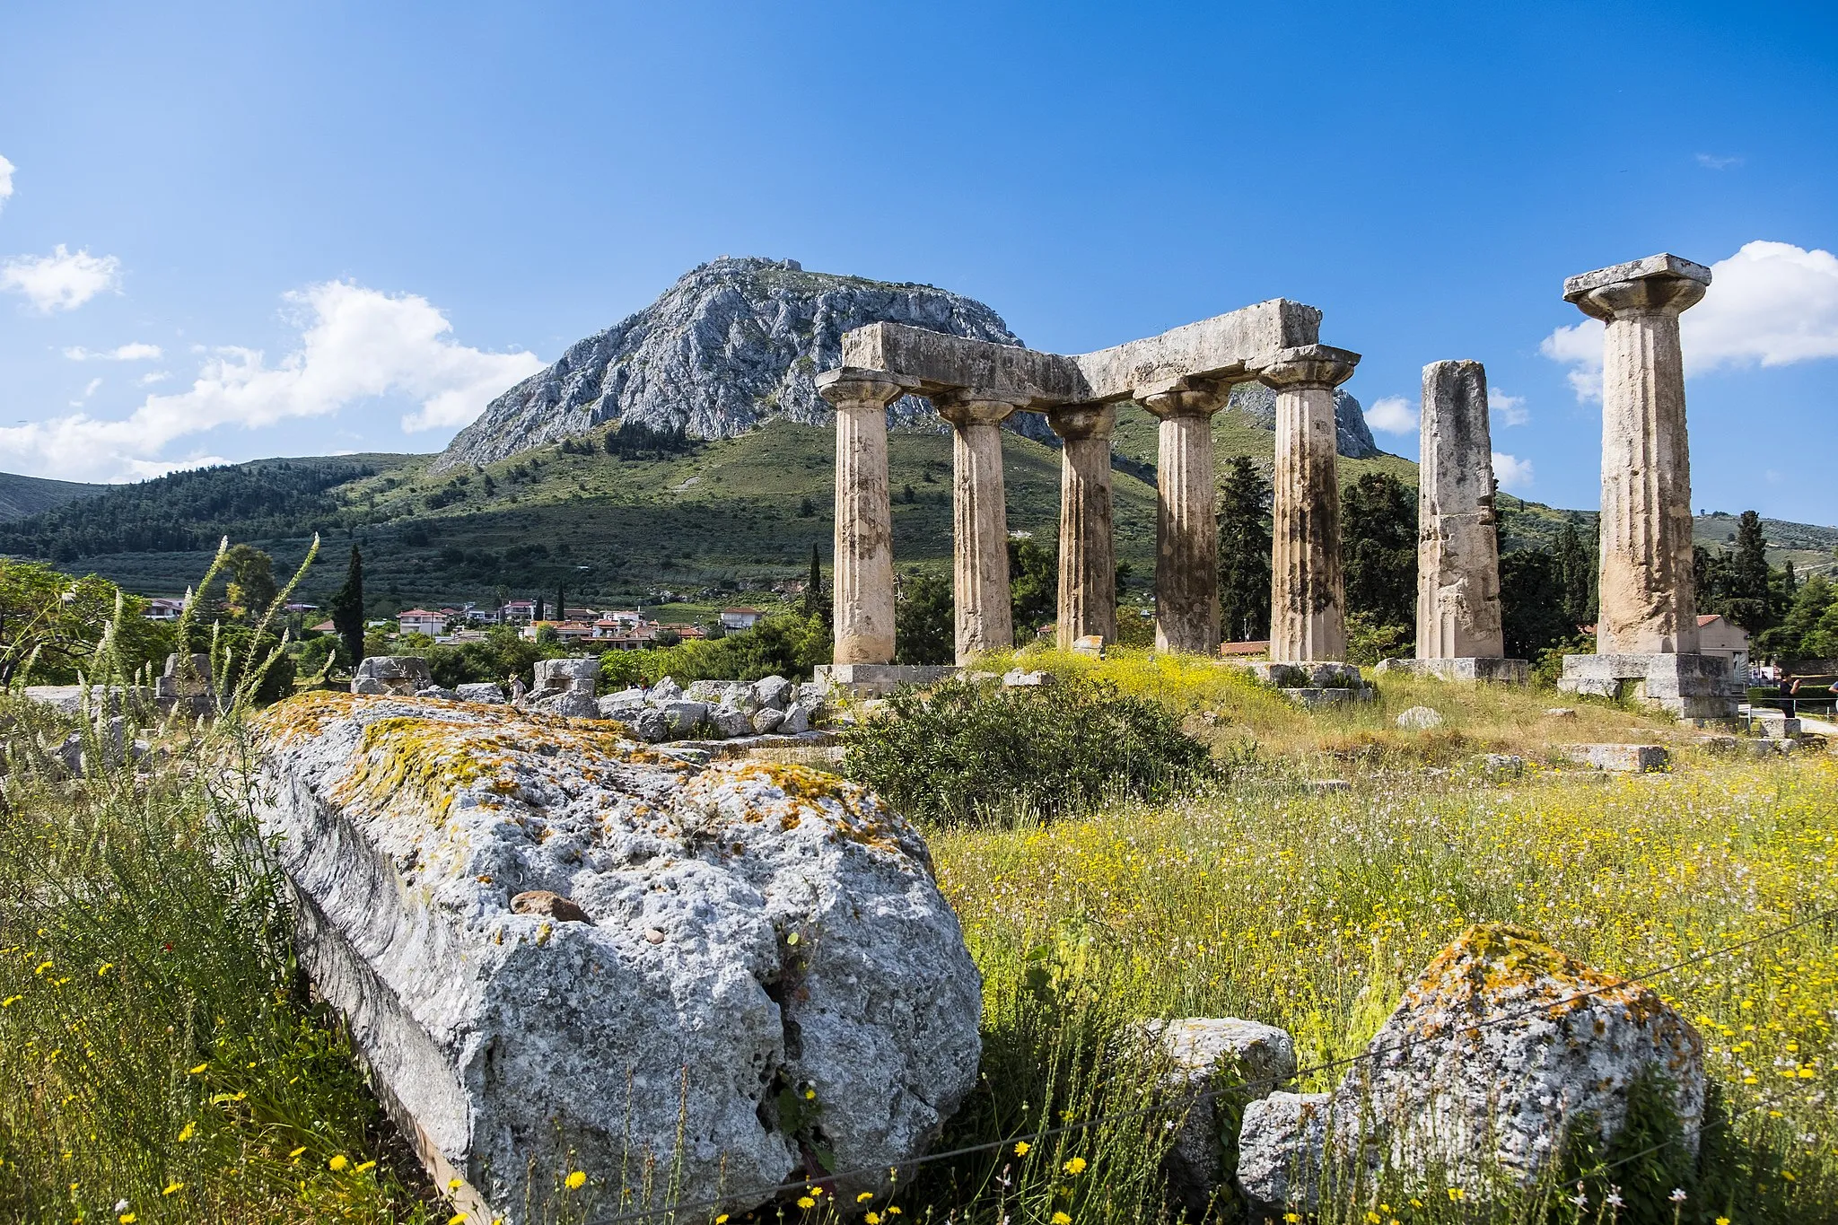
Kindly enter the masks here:
<path id="1" fill-rule="evenodd" d="M 7 6 L 0 470 L 436 450 L 757 253 L 1062 353 L 1314 303 L 1382 446 L 1478 358 L 1594 507 L 1560 283 L 1671 250 L 1693 500 L 1838 523 L 1838 9 L 1522 7 Z"/>

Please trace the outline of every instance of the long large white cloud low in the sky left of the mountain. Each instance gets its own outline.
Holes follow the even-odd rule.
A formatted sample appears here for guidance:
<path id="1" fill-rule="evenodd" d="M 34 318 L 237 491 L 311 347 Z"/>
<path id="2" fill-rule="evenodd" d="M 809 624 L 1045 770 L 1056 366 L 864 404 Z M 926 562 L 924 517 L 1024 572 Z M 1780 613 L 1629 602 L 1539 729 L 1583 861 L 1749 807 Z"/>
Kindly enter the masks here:
<path id="1" fill-rule="evenodd" d="M 533 353 L 485 353 L 448 340 L 452 323 L 426 298 L 325 281 L 287 294 L 300 316 L 300 347 L 268 365 L 255 349 L 210 353 L 189 391 L 149 395 L 121 421 L 72 413 L 0 428 L 0 452 L 42 476 L 123 479 L 213 457 L 165 459 L 182 437 L 219 426 L 259 430 L 298 417 L 329 417 L 384 395 L 419 408 L 404 430 L 463 424 L 491 397 L 542 369 Z"/>

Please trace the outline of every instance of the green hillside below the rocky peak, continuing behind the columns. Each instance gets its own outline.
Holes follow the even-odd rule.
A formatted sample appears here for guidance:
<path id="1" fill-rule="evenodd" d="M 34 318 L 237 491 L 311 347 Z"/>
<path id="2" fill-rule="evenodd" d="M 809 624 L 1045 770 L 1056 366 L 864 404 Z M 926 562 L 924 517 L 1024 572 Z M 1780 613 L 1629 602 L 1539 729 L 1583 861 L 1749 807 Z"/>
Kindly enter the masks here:
<path id="1" fill-rule="evenodd" d="M 145 595 L 176 595 L 210 564 L 219 536 L 254 542 L 292 568 L 314 531 L 322 562 L 301 599 L 323 604 L 344 579 L 351 542 L 364 549 L 371 613 L 415 604 L 493 602 L 500 593 L 570 604 L 654 606 L 662 591 L 687 599 L 671 617 L 697 617 L 737 591 L 801 579 L 816 544 L 829 560 L 834 439 L 829 428 L 772 422 L 709 443 L 660 444 L 619 457 L 605 432 L 551 444 L 463 474 L 428 476 L 432 455 L 265 459 L 107 487 L 83 501 L 0 523 L 0 551 L 50 556 L 72 573 L 99 573 Z M 1252 455 L 1268 470 L 1274 439 L 1237 411 L 1215 419 L 1220 465 Z M 1129 588 L 1154 575 L 1156 422 L 1136 406 L 1118 419 L 1118 558 Z M 1059 525 L 1059 452 L 1004 433 L 1009 527 L 1051 547 Z M 1415 481 L 1399 455 L 1340 461 L 1342 483 L 1366 472 Z M 346 479 L 351 478 L 355 479 Z M 18 478 L 13 478 L 18 479 Z M 950 437 L 891 437 L 893 547 L 901 564 L 950 556 Z M 4 487 L 0 487 L 4 489 Z M 79 487 L 81 489 L 81 487 Z M 1564 512 L 1500 496 L 1507 545 L 1549 545 L 1566 514 L 1594 529 L 1594 512 Z M 1770 560 L 1831 566 L 1838 529 L 1768 520 Z M 1728 514 L 1698 520 L 1698 538 L 1722 545 Z M 164 536 L 162 536 L 164 533 Z M 136 547 L 149 536 L 184 547 Z M 81 547 L 94 542 L 92 547 Z"/>

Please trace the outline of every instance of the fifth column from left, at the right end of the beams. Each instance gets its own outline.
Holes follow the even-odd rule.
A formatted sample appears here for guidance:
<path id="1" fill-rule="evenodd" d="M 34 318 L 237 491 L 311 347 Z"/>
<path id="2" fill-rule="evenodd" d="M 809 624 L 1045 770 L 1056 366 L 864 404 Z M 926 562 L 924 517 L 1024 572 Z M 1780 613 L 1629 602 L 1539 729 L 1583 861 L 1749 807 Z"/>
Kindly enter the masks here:
<path id="1" fill-rule="evenodd" d="M 1334 388 L 1360 354 L 1329 345 L 1283 349 L 1259 371 L 1276 389 L 1276 500 L 1270 512 L 1270 659 L 1347 657 L 1340 575 Z"/>

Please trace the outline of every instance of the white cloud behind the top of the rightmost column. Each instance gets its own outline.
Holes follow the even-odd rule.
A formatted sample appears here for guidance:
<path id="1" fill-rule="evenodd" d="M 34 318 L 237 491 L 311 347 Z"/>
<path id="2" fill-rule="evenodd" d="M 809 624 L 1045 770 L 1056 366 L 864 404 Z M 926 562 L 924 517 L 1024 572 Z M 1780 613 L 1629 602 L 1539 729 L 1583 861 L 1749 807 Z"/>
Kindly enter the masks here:
<path id="1" fill-rule="evenodd" d="M 1790 242 L 1746 242 L 1711 264 L 1704 301 L 1680 320 L 1685 375 L 1838 356 L 1838 257 Z M 1603 325 L 1559 327 L 1538 351 L 1570 365 L 1579 400 L 1601 399 Z"/>

